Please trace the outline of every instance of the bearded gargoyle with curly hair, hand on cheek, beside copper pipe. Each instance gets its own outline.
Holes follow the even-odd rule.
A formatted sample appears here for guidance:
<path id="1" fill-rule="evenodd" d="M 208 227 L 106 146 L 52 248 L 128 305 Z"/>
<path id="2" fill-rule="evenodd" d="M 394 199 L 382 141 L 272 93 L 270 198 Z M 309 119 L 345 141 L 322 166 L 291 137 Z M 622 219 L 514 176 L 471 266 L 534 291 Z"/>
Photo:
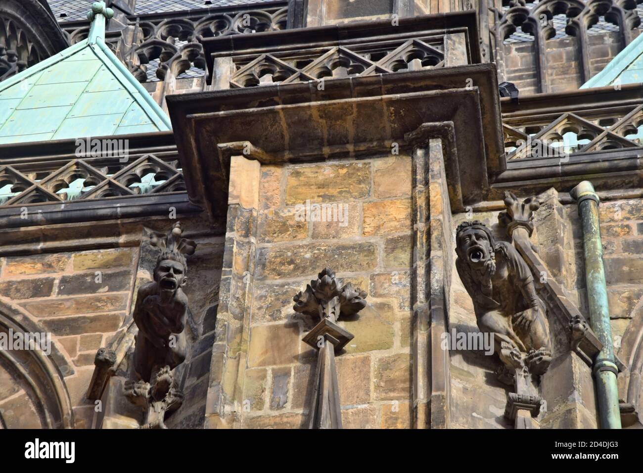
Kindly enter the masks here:
<path id="1" fill-rule="evenodd" d="M 549 330 L 527 263 L 510 243 L 496 243 L 480 221 L 461 223 L 456 245 L 456 268 L 473 299 L 478 328 L 493 333 L 507 367 L 500 379 L 512 384 L 516 369 L 545 373 L 551 362 Z"/>

